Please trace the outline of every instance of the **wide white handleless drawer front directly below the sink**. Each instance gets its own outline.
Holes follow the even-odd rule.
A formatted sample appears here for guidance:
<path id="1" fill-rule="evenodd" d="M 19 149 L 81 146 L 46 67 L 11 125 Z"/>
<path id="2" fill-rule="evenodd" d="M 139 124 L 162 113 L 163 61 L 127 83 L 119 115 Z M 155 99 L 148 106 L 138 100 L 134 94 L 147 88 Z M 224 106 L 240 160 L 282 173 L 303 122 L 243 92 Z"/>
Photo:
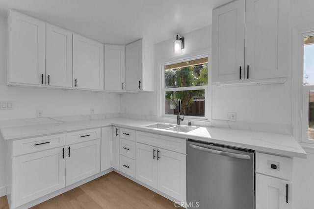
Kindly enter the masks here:
<path id="1" fill-rule="evenodd" d="M 186 154 L 186 139 L 150 134 L 141 131 L 135 132 L 135 139 L 136 142 Z"/>

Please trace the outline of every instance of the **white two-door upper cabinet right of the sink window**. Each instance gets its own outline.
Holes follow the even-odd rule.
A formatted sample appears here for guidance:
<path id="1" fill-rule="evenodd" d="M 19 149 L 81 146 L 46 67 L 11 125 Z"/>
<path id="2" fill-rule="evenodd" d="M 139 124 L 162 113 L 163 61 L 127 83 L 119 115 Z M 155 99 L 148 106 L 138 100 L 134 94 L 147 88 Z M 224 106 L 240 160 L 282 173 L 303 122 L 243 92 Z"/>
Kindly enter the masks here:
<path id="1" fill-rule="evenodd" d="M 214 9 L 212 82 L 287 76 L 288 11 L 285 0 L 236 0 Z"/>

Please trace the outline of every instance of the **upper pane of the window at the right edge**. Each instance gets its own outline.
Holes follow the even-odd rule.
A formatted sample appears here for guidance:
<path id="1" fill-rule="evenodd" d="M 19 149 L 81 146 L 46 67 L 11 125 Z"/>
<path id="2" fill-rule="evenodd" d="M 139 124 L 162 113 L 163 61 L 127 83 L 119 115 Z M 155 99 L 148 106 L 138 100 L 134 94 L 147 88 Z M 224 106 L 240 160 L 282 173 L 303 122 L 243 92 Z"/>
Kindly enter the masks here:
<path id="1" fill-rule="evenodd" d="M 314 36 L 304 38 L 304 85 L 314 85 Z"/>

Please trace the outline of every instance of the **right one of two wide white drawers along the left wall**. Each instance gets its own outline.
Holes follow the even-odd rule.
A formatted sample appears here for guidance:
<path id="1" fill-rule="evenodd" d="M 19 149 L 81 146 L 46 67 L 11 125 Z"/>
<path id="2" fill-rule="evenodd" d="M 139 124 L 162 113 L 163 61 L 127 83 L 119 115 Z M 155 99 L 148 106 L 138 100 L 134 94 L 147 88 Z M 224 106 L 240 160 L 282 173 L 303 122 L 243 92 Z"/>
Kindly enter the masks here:
<path id="1" fill-rule="evenodd" d="M 100 139 L 100 128 L 67 133 L 67 144 Z"/>

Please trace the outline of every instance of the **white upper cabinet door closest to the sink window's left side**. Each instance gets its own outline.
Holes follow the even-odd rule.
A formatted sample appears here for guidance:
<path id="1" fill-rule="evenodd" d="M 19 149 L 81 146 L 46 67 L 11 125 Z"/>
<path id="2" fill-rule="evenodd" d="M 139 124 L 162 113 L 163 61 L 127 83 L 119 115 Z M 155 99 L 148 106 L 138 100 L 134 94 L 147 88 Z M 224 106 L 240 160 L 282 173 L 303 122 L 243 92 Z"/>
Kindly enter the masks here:
<path id="1" fill-rule="evenodd" d="M 126 90 L 142 89 L 143 39 L 126 46 Z"/>

